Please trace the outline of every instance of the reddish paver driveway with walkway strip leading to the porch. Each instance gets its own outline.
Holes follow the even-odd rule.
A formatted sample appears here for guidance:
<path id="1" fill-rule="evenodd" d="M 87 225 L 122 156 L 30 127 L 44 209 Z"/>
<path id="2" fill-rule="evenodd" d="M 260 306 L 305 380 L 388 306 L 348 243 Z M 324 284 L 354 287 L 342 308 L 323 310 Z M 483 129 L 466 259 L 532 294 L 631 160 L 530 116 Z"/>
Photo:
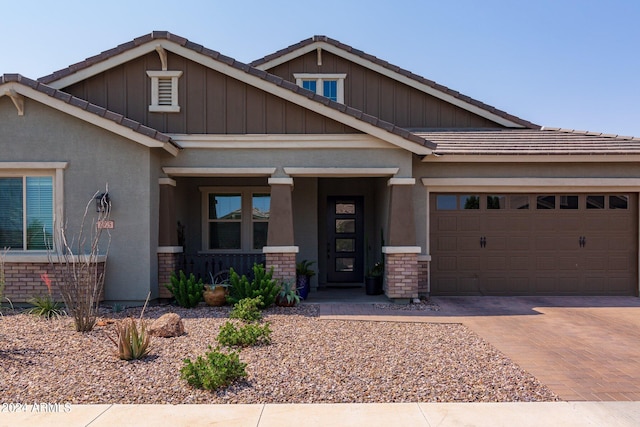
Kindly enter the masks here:
<path id="1" fill-rule="evenodd" d="M 462 323 L 567 401 L 640 401 L 640 298 L 434 297 L 439 311 L 321 304 L 321 318 Z"/>

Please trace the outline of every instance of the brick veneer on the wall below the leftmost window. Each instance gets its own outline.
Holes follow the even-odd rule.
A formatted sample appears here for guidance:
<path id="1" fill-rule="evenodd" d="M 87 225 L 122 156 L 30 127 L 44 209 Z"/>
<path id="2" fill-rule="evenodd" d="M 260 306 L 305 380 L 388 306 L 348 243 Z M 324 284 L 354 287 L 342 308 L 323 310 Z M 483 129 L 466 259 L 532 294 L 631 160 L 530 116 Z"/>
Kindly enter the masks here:
<path id="1" fill-rule="evenodd" d="M 25 303 L 34 296 L 44 296 L 49 290 L 41 278 L 46 273 L 51 279 L 51 293 L 55 301 L 62 301 L 57 292 L 57 279 L 63 276 L 64 264 L 49 262 L 11 262 L 5 260 L 4 296 L 12 303 Z M 98 263 L 99 272 L 104 272 L 104 261 Z M 100 295 L 100 301 L 104 300 L 104 290 Z"/>

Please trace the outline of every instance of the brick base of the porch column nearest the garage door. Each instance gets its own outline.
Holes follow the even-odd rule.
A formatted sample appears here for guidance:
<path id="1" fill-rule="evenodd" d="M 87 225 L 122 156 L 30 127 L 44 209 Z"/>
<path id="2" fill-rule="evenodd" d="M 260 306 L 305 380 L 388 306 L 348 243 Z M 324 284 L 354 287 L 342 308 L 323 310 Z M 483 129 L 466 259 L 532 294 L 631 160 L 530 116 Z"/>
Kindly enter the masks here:
<path id="1" fill-rule="evenodd" d="M 384 290 L 390 299 L 418 297 L 418 256 L 415 253 L 385 254 Z"/>

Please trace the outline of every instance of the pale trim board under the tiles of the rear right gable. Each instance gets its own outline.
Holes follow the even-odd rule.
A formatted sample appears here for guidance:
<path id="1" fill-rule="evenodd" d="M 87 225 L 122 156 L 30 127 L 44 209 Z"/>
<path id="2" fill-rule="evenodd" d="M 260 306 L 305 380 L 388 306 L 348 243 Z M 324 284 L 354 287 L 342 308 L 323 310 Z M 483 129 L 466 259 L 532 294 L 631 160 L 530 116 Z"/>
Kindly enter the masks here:
<path id="1" fill-rule="evenodd" d="M 470 104 L 468 102 L 465 102 L 459 98 L 456 98 L 452 95 L 449 95 L 445 92 L 442 92 L 438 89 L 435 89 L 429 85 L 426 85 L 424 83 L 421 83 L 417 80 L 414 80 L 412 78 L 409 78 L 407 76 L 404 76 L 400 73 L 397 73 L 395 71 L 391 71 L 381 65 L 378 65 L 372 61 L 369 61 L 367 59 L 364 59 L 358 55 L 354 55 L 353 53 L 347 52 L 343 49 L 340 49 L 338 47 L 333 46 L 332 44 L 329 43 L 325 43 L 325 42 L 314 42 L 311 43 L 303 48 L 300 48 L 294 52 L 290 52 L 286 55 L 280 56 L 278 58 L 275 58 L 271 61 L 265 62 L 263 64 L 258 65 L 256 68 L 260 69 L 260 70 L 268 70 L 270 68 L 273 68 L 277 65 L 283 64 L 287 61 L 290 61 L 294 58 L 297 58 L 299 56 L 304 55 L 305 53 L 308 53 L 312 50 L 315 50 L 317 48 L 321 48 L 323 50 L 326 50 L 328 52 L 331 52 L 337 56 L 340 56 L 342 58 L 345 58 L 348 61 L 354 62 L 358 65 L 361 65 L 365 68 L 368 68 L 370 70 L 373 70 L 377 73 L 382 74 L 383 76 L 389 77 L 393 80 L 399 81 L 400 83 L 406 84 L 407 86 L 411 86 L 414 89 L 418 89 L 421 92 L 427 93 L 431 96 L 434 96 L 436 98 L 442 99 L 443 101 L 446 101 L 450 104 L 453 104 L 457 107 L 460 107 L 464 110 L 470 111 L 474 114 L 477 114 L 478 116 L 484 117 L 486 119 L 489 119 L 493 122 L 496 122 L 498 124 L 501 124 L 503 126 L 507 126 L 507 127 L 515 127 L 515 128 L 524 128 L 524 126 L 522 126 L 519 123 L 515 123 L 512 122 L 511 120 L 505 119 L 504 117 L 498 116 L 496 114 L 493 114 L 483 108 L 477 107 L 473 104 Z"/>

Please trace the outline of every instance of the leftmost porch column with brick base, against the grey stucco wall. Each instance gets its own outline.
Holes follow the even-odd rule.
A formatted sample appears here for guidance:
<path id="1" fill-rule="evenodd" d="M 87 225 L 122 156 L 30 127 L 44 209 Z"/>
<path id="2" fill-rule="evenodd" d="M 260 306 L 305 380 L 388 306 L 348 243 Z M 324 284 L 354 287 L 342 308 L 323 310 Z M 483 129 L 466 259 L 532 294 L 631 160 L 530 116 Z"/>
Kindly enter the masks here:
<path id="1" fill-rule="evenodd" d="M 176 182 L 171 178 L 160 178 L 158 184 L 158 298 L 171 298 L 171 292 L 164 285 L 169 283 L 171 273 L 182 267 L 183 252 L 182 246 L 178 246 Z"/>

